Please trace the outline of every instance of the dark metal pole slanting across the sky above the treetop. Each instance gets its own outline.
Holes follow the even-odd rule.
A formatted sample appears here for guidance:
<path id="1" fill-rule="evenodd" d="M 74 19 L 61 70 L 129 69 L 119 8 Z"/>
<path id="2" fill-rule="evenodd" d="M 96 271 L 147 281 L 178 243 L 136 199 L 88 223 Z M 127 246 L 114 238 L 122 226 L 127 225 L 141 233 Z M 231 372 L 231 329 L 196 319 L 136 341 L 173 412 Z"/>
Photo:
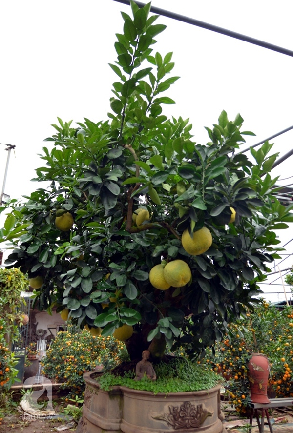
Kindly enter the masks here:
<path id="1" fill-rule="evenodd" d="M 113 0 L 118 3 L 123 3 L 129 6 L 129 0 Z M 143 7 L 146 3 L 142 3 L 141 1 L 135 1 L 135 3 L 139 7 Z M 160 9 L 158 7 L 151 6 L 150 11 L 154 14 L 159 14 L 167 18 L 172 18 L 173 20 L 186 22 L 188 24 L 196 25 L 197 27 L 205 28 L 207 30 L 211 30 L 212 32 L 221 33 L 222 35 L 230 36 L 231 38 L 239 39 L 240 41 L 245 41 L 249 43 L 253 43 L 254 45 L 262 46 L 263 48 L 267 48 L 272 51 L 277 51 L 281 54 L 286 54 L 286 56 L 293 57 L 293 51 L 288 50 L 287 48 L 282 48 L 277 45 L 273 45 L 272 43 L 260 41 L 259 39 L 251 38 L 250 36 L 242 35 L 241 33 L 232 32 L 231 30 L 224 29 L 223 27 L 218 27 L 217 25 L 209 24 L 208 22 L 194 20 L 190 17 L 185 17 L 184 15 L 176 14 L 175 12 L 170 12 L 165 9 Z"/>

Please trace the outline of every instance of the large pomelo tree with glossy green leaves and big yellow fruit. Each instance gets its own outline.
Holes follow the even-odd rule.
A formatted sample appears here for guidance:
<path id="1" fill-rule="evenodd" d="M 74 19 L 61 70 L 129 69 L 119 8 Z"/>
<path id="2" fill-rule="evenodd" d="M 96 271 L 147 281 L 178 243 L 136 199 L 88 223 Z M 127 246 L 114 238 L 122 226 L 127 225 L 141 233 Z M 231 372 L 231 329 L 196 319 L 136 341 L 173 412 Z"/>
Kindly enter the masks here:
<path id="1" fill-rule="evenodd" d="M 153 50 L 165 25 L 150 4 L 131 8 L 110 64 L 109 119 L 53 125 L 35 179 L 48 187 L 13 206 L 28 226 L 6 263 L 42 277 L 39 309 L 67 309 L 73 323 L 105 336 L 119 328 L 131 359 L 148 349 L 154 360 L 166 344 L 193 355 L 221 339 L 255 302 L 278 257 L 274 230 L 293 215 L 273 194 L 272 144 L 251 148 L 254 162 L 241 153 L 252 133 L 239 114 L 230 121 L 223 111 L 207 144 L 194 141 L 188 119 L 163 114 L 179 78 L 169 76 L 172 53 Z M 157 265 L 154 285 L 167 283 L 159 289 L 149 279 Z"/>

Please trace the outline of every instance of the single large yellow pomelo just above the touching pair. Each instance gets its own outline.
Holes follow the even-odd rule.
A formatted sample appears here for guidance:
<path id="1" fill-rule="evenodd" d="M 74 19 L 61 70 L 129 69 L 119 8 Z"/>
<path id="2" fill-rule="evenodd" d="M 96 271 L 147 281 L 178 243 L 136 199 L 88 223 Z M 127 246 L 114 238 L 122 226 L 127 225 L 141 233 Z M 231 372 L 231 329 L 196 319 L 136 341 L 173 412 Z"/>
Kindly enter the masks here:
<path id="1" fill-rule="evenodd" d="M 188 228 L 183 232 L 182 247 L 188 254 L 192 256 L 198 256 L 206 252 L 212 244 L 212 237 L 209 229 L 207 227 L 202 227 L 201 229 L 193 233 L 193 238 L 191 238 Z"/>

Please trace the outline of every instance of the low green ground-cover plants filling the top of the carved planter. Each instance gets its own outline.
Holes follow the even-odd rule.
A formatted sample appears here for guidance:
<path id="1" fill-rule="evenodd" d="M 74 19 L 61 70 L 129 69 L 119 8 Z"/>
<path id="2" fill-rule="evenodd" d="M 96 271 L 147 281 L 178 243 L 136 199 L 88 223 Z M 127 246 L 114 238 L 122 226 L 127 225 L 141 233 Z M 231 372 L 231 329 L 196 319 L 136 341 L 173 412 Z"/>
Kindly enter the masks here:
<path id="1" fill-rule="evenodd" d="M 134 371 L 129 371 L 124 377 L 105 373 L 98 381 L 101 389 L 109 391 L 112 386 L 121 385 L 135 390 L 158 392 L 191 392 L 207 390 L 221 381 L 221 376 L 198 366 L 186 358 L 173 358 L 168 363 L 154 365 L 156 381 L 142 378 L 134 380 Z"/>

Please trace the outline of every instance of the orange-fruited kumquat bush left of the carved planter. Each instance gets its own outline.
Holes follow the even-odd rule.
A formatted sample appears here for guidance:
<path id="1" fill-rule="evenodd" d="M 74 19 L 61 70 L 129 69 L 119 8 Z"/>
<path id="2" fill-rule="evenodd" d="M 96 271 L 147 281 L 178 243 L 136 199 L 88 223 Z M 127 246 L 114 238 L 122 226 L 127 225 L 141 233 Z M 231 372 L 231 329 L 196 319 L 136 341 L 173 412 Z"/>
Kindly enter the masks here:
<path id="1" fill-rule="evenodd" d="M 113 337 L 92 336 L 88 330 L 80 330 L 68 325 L 65 332 L 58 332 L 42 359 L 42 371 L 62 388 L 72 393 L 84 392 L 83 374 L 92 371 L 97 365 L 114 367 L 124 343 Z"/>

